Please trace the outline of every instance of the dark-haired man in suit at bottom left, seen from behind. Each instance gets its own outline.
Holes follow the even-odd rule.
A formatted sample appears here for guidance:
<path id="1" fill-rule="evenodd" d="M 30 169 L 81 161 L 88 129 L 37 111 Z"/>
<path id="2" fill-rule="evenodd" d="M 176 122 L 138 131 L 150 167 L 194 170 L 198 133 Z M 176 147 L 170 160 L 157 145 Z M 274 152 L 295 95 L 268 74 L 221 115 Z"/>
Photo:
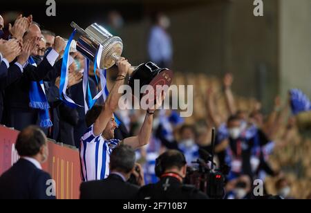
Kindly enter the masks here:
<path id="1" fill-rule="evenodd" d="M 48 158 L 43 131 L 34 126 L 24 129 L 15 147 L 21 158 L 0 176 L 0 199 L 55 199 L 52 178 L 40 165 Z"/>

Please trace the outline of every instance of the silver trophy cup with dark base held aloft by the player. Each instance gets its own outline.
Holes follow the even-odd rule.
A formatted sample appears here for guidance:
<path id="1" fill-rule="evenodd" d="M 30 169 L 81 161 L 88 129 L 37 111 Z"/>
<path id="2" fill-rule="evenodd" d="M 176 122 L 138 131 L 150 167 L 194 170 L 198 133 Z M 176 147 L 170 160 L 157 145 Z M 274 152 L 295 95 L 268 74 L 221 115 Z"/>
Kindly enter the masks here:
<path id="1" fill-rule="evenodd" d="M 80 34 L 77 40 L 77 50 L 84 57 L 90 59 L 92 62 L 100 49 L 103 46 L 102 55 L 100 57 L 101 69 L 111 68 L 122 55 L 123 43 L 120 37 L 111 35 L 108 30 L 99 24 L 92 24 L 86 30 L 80 28 L 75 22 L 70 24 L 73 28 L 77 29 Z M 173 78 L 173 71 L 168 68 L 160 68 L 153 62 L 140 64 L 140 66 L 130 68 L 129 86 L 134 88 L 135 81 L 140 80 L 140 87 L 144 85 L 151 85 L 156 89 L 156 86 L 170 86 Z M 142 98 L 144 95 L 140 95 Z M 155 97 L 156 98 L 156 97 Z"/>

